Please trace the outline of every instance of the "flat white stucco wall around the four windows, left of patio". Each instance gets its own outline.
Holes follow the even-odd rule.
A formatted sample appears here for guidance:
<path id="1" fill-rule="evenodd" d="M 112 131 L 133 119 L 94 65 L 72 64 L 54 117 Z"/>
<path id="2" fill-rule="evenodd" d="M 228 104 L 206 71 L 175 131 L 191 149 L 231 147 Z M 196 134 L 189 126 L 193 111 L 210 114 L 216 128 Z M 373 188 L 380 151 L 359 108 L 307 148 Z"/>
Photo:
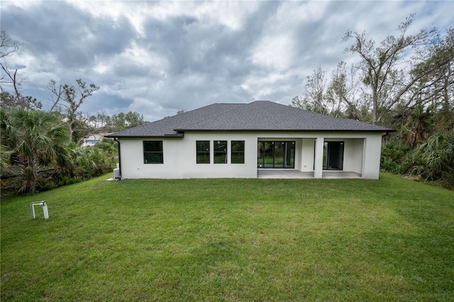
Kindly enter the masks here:
<path id="1" fill-rule="evenodd" d="M 184 138 L 118 139 L 121 178 L 257 178 L 257 136 L 200 132 Z M 162 141 L 164 163 L 143 163 L 143 141 Z M 196 163 L 196 141 L 210 141 L 210 163 Z M 214 163 L 213 141 L 227 142 L 227 163 Z M 231 163 L 231 141 L 245 141 L 245 163 Z"/>

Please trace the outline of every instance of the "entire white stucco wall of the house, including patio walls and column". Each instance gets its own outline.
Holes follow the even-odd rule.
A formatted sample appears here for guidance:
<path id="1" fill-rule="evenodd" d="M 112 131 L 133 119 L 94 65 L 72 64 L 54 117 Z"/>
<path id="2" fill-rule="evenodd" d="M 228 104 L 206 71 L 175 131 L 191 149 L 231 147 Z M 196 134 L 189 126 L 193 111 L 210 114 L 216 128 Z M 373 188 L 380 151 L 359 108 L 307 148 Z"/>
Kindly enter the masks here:
<path id="1" fill-rule="evenodd" d="M 143 163 L 143 141 L 153 140 L 162 141 L 162 164 Z M 323 174 L 323 142 L 345 141 L 343 171 L 372 179 L 380 174 L 381 133 L 201 131 L 187 132 L 184 138 L 118 139 L 121 178 L 257 178 L 259 140 L 295 141 L 295 169 L 314 171 L 315 178 Z M 196 141 L 210 141 L 209 164 L 196 163 Z M 228 163 L 214 163 L 213 141 L 228 141 Z M 245 141 L 245 163 L 231 163 L 231 141 Z"/>

